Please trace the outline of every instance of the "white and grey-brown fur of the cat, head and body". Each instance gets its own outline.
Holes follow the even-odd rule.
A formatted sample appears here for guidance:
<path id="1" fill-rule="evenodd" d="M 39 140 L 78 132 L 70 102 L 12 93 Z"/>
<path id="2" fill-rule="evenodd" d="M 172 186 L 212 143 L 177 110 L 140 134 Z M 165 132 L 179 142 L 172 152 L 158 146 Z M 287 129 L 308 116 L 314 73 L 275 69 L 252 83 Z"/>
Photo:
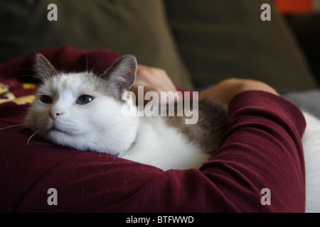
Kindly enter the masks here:
<path id="1" fill-rule="evenodd" d="M 219 104 L 199 101 L 196 125 L 186 125 L 186 117 L 176 114 L 125 117 L 122 93 L 132 88 L 136 70 L 137 61 L 128 55 L 101 75 L 65 74 L 57 72 L 46 57 L 37 55 L 36 71 L 42 84 L 26 116 L 26 127 L 53 143 L 119 155 L 162 170 L 200 167 L 220 145 L 226 112 Z M 52 103 L 43 103 L 43 95 L 52 98 Z M 95 101 L 76 104 L 82 95 L 95 97 Z M 304 115 L 306 211 L 320 212 L 320 121 Z"/>

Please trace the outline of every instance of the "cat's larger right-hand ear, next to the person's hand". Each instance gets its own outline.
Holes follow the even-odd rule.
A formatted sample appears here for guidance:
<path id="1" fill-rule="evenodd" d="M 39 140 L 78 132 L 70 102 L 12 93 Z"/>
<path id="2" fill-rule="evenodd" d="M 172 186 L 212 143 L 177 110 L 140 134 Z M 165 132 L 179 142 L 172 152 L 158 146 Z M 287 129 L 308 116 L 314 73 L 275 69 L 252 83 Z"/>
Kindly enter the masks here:
<path id="1" fill-rule="evenodd" d="M 137 60 L 133 55 L 120 57 L 101 77 L 106 78 L 112 93 L 121 98 L 131 91 L 137 76 Z"/>

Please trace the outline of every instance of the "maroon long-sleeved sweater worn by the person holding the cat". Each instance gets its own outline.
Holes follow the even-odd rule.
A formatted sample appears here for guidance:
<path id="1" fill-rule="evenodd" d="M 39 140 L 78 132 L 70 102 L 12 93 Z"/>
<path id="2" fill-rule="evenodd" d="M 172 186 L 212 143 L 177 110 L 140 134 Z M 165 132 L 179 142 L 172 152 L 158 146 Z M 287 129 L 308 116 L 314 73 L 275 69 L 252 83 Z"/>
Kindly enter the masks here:
<path id="1" fill-rule="evenodd" d="M 85 51 L 64 47 L 41 52 L 53 65 L 83 70 L 74 62 L 83 61 Z M 63 57 L 68 55 L 73 57 Z M 107 50 L 88 56 L 91 65 L 105 59 L 103 70 L 118 57 Z M 9 84 L 16 96 L 34 93 L 21 85 L 33 81 L 31 77 L 13 79 L 16 69 L 31 68 L 33 59 L 30 55 L 0 65 L 0 82 Z M 20 123 L 27 107 L 12 101 L 0 104 L 0 128 Z M 301 111 L 279 96 L 258 91 L 235 96 L 229 111 L 223 145 L 200 170 L 163 172 L 107 154 L 63 148 L 38 136 L 28 142 L 32 133 L 21 126 L 3 129 L 0 211 L 304 212 L 301 137 L 306 123 Z M 56 189 L 58 205 L 48 204 L 50 188 Z M 265 188 L 270 189 L 271 205 L 261 202 Z"/>

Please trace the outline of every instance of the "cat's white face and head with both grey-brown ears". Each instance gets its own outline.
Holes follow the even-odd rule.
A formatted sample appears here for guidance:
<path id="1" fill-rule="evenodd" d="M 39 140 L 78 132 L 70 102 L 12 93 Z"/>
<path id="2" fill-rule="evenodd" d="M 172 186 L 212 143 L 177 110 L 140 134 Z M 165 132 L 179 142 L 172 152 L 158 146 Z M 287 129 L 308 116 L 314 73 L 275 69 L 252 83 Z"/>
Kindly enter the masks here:
<path id="1" fill-rule="evenodd" d="M 132 89 L 137 60 L 119 58 L 105 71 L 63 73 L 41 54 L 36 74 L 42 83 L 25 118 L 27 128 L 59 145 L 116 155 L 134 142 L 138 118 L 124 116 L 122 94 Z"/>

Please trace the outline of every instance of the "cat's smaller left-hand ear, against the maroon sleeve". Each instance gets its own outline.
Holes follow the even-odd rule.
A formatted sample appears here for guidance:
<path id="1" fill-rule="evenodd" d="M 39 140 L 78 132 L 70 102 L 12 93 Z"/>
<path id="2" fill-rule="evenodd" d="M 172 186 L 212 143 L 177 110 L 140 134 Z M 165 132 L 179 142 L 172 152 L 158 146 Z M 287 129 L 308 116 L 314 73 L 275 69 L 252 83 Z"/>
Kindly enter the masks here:
<path id="1" fill-rule="evenodd" d="M 41 54 L 36 55 L 35 70 L 36 77 L 38 77 L 38 79 L 41 79 L 42 81 L 49 79 L 50 77 L 58 73 L 57 70 L 55 70 L 55 67 L 51 65 L 49 60 Z"/>

